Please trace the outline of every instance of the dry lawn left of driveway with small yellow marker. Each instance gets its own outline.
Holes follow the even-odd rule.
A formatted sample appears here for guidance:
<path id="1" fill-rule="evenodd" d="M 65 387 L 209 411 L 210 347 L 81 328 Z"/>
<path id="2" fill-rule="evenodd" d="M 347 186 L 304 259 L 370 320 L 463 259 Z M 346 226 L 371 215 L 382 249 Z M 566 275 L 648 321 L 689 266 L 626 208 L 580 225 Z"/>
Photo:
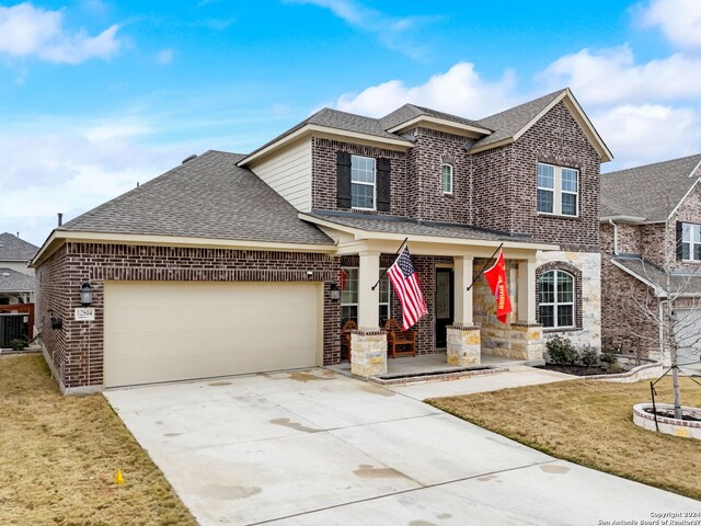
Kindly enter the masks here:
<path id="1" fill-rule="evenodd" d="M 41 356 L 0 357 L 0 524 L 196 524 L 104 397 L 62 397 Z"/>

